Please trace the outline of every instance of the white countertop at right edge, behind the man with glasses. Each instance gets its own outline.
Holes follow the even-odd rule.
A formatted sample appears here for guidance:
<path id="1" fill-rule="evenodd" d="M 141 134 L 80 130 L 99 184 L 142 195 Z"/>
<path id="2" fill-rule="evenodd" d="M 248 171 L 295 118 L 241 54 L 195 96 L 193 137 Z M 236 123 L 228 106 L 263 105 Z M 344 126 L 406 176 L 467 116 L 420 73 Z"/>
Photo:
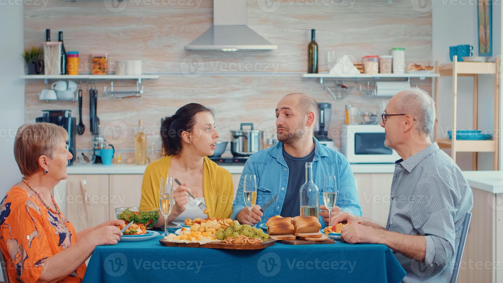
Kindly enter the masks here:
<path id="1" fill-rule="evenodd" d="M 493 194 L 503 194 L 503 171 L 463 171 L 471 187 Z"/>

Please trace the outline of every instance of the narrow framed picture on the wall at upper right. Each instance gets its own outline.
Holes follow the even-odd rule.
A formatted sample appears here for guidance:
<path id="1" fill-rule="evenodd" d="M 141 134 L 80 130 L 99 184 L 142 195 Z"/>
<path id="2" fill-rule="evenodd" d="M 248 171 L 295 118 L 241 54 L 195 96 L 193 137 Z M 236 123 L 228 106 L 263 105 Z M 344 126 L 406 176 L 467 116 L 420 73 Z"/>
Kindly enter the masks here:
<path id="1" fill-rule="evenodd" d="M 477 0 L 478 55 L 492 56 L 492 1 Z"/>

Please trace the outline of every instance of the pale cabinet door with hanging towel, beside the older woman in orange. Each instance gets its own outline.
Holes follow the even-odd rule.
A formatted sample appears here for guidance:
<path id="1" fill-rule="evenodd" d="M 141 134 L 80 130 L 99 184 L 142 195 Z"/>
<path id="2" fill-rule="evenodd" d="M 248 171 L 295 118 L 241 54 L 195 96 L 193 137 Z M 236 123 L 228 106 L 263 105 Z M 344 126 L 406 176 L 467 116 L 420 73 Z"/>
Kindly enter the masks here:
<path id="1" fill-rule="evenodd" d="M 65 216 L 74 224 L 77 231 L 96 226 L 109 220 L 109 185 L 108 175 L 68 175 L 66 186 L 75 188 L 82 185 L 83 195 L 66 195 Z M 72 190 L 73 191 L 73 190 Z M 80 217 L 85 217 L 75 212 L 84 209 L 87 205 L 88 225 L 82 225 Z"/>

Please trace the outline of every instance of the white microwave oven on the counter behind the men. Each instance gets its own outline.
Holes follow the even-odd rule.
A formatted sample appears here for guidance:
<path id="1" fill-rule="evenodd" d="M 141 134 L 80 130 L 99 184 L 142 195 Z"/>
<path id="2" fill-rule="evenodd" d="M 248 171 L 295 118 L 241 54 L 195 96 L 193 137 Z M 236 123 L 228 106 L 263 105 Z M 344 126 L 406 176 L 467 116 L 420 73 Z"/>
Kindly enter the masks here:
<path id="1" fill-rule="evenodd" d="M 349 163 L 395 163 L 401 157 L 384 146 L 385 136 L 380 125 L 343 125 L 342 153 Z"/>

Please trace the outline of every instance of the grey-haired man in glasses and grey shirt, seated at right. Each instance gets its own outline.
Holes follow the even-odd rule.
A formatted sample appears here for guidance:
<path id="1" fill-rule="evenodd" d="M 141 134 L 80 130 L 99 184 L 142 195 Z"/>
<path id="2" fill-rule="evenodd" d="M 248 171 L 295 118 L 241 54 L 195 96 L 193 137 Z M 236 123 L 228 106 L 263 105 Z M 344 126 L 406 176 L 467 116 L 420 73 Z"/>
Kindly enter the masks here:
<path id="1" fill-rule="evenodd" d="M 428 93 L 398 92 L 381 123 L 384 144 L 402 157 L 395 162 L 386 228 L 348 213 L 335 220 L 351 223 L 341 235 L 348 243 L 390 247 L 407 271 L 405 283 L 450 281 L 464 216 L 473 207 L 461 170 L 430 141 L 434 123 L 435 103 Z"/>

